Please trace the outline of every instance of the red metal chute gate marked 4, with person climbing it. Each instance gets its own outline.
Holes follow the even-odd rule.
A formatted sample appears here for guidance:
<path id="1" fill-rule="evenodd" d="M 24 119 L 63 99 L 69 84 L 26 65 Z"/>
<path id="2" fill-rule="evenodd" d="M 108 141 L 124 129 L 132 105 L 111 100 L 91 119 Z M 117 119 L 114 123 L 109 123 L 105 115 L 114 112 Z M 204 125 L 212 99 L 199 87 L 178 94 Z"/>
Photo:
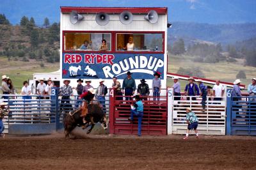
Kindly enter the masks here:
<path id="1" fill-rule="evenodd" d="M 163 89 L 164 90 L 164 89 Z M 166 90 L 164 90 L 166 91 Z M 138 120 L 128 120 L 131 115 L 132 100 L 116 100 L 114 90 L 109 93 L 109 125 L 111 134 L 138 134 Z M 120 97 L 120 96 L 119 96 Z M 160 100 L 153 100 L 147 97 L 143 100 L 144 112 L 141 134 L 143 135 L 166 135 L 167 127 L 167 97 L 160 97 Z"/>

